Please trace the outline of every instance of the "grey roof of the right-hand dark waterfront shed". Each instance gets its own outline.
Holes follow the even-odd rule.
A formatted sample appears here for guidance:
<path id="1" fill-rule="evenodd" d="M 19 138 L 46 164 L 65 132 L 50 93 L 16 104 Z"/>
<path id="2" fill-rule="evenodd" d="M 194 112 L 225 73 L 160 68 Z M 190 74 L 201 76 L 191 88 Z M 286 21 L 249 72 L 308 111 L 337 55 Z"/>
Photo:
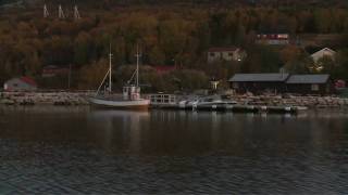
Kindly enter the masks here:
<path id="1" fill-rule="evenodd" d="M 286 83 L 325 83 L 330 75 L 293 75 Z"/>

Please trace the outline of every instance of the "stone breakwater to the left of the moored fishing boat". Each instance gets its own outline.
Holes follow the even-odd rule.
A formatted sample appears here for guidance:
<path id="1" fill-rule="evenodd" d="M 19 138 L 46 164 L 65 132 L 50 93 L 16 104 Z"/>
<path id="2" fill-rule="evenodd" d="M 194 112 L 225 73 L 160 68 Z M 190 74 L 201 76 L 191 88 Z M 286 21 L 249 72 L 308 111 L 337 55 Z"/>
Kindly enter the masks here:
<path id="1" fill-rule="evenodd" d="M 89 105 L 91 92 L 1 92 L 5 105 Z"/>

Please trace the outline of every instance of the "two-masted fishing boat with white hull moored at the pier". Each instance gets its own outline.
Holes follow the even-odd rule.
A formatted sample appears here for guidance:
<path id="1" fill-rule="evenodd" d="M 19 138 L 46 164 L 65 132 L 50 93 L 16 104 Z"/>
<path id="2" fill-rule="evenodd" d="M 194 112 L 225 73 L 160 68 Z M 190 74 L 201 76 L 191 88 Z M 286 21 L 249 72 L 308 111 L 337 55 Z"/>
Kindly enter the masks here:
<path id="1" fill-rule="evenodd" d="M 150 100 L 141 99 L 139 87 L 139 51 L 137 50 L 137 66 L 128 82 L 123 87 L 122 95 L 112 93 L 112 53 L 109 53 L 109 70 L 100 83 L 95 96 L 90 96 L 88 101 L 99 107 L 110 107 L 115 109 L 148 109 Z M 105 80 L 109 78 L 108 88 Z M 100 90 L 104 86 L 103 94 Z"/>

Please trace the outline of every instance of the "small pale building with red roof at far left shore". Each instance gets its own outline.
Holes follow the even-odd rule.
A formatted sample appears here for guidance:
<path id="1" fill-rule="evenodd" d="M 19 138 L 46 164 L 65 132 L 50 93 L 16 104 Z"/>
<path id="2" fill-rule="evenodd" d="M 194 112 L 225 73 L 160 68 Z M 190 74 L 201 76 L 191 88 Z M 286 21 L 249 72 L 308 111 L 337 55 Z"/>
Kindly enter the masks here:
<path id="1" fill-rule="evenodd" d="M 4 91 L 36 91 L 37 83 L 30 77 L 13 78 L 4 82 Z"/>

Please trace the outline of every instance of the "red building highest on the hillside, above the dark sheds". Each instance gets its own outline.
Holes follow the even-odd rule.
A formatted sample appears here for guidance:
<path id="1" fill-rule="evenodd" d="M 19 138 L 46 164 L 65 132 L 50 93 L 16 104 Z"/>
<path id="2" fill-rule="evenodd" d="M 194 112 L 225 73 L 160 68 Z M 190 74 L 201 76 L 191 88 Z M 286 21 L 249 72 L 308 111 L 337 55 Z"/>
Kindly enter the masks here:
<path id="1" fill-rule="evenodd" d="M 285 46 L 290 43 L 290 36 L 287 32 L 273 32 L 264 34 L 260 32 L 257 35 L 257 43 L 270 44 L 270 46 Z"/>

